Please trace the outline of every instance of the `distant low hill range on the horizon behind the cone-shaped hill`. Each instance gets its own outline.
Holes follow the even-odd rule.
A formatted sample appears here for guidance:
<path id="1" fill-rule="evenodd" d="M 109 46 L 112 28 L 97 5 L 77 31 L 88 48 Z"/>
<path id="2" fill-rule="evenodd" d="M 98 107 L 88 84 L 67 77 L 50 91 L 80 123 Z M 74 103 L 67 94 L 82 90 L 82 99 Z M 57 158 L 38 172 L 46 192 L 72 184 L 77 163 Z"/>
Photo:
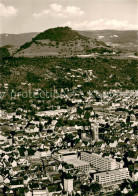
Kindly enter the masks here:
<path id="1" fill-rule="evenodd" d="M 0 47 L 5 45 L 13 45 L 19 47 L 26 42 L 30 42 L 37 35 L 44 36 L 49 31 L 44 31 L 43 33 L 22 33 L 22 34 L 0 34 Z M 122 44 L 126 45 L 129 43 L 138 44 L 138 33 L 136 30 L 129 31 L 117 31 L 117 30 L 85 30 L 76 31 L 80 35 L 91 39 L 97 39 L 105 43 L 110 44 Z M 59 36 L 59 35 L 58 35 Z M 50 37 L 49 37 L 50 38 Z M 40 39 L 40 36 L 37 36 Z M 54 36 L 55 39 L 55 36 Z"/>

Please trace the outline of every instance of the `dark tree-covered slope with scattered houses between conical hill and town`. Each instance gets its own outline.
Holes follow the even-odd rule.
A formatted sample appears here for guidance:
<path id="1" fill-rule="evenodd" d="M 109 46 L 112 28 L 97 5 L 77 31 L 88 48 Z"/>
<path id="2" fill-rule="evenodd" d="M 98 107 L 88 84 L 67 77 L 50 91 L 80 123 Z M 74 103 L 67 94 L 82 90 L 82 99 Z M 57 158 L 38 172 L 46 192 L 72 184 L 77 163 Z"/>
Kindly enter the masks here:
<path id="1" fill-rule="evenodd" d="M 70 89 L 72 93 L 78 92 L 79 94 L 93 90 L 135 90 L 138 88 L 137 62 L 132 59 L 100 57 L 97 59 L 77 57 L 4 58 L 1 60 L 0 66 L 1 92 L 4 92 L 5 95 L 2 105 L 7 109 L 11 105 L 13 102 L 13 97 L 12 99 L 10 97 L 13 96 L 12 91 L 18 96 L 18 93 L 28 93 L 30 89 L 31 92 L 41 89 L 43 92 L 48 92 L 47 97 L 49 98 L 54 89 L 59 92 L 61 89 Z M 8 89 L 5 84 L 8 84 Z M 30 105 L 28 101 L 29 97 L 26 99 L 21 97 L 21 100 L 17 98 L 16 103 L 12 106 L 15 109 L 20 104 L 24 106 L 29 103 Z M 47 101 L 44 99 L 44 103 Z"/>

